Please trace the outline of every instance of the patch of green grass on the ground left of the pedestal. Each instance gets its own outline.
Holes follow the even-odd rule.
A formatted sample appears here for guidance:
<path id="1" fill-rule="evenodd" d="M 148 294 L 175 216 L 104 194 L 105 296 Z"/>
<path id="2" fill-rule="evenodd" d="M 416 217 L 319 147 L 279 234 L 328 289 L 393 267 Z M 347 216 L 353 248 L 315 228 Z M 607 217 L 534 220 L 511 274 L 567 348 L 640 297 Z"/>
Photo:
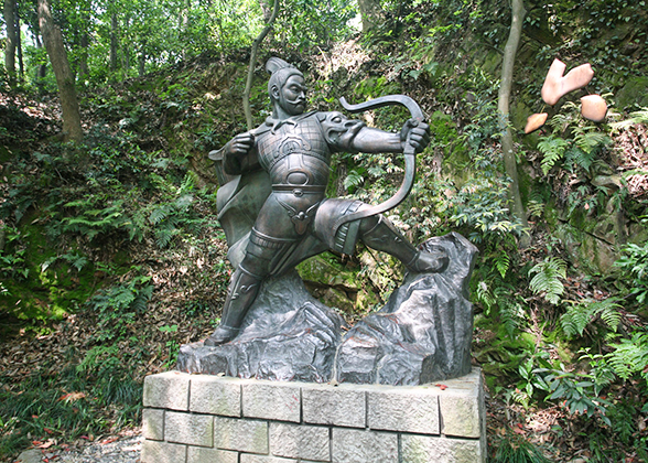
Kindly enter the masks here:
<path id="1" fill-rule="evenodd" d="M 43 435 L 71 441 L 138 423 L 142 385 L 116 360 L 117 351 L 95 347 L 79 364 L 76 353 L 66 352 L 56 373 L 35 369 L 21 384 L 1 388 L 0 456 L 17 454 Z"/>

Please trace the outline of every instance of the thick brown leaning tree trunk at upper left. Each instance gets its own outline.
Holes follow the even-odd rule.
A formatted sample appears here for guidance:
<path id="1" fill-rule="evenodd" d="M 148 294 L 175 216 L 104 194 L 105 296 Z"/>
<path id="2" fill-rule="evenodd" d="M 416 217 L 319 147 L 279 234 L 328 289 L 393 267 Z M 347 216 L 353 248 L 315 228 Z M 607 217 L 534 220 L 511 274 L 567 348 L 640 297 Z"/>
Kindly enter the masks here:
<path id="1" fill-rule="evenodd" d="M 61 30 L 54 24 L 54 19 L 52 18 L 48 0 L 39 0 L 39 24 L 50 62 L 52 63 L 52 69 L 56 76 L 56 84 L 58 85 L 61 109 L 63 110 L 64 140 L 80 141 L 83 132 L 74 77 L 69 68 L 69 62 L 67 61 L 67 52 L 63 44 Z"/>

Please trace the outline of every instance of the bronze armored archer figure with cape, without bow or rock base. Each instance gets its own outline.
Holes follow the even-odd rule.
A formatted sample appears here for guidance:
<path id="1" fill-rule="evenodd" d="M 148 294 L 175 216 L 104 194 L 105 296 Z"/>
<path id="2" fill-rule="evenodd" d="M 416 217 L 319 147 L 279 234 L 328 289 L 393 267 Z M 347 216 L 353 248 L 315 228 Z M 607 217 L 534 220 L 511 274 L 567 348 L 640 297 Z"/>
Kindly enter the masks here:
<path id="1" fill-rule="evenodd" d="M 420 152 L 429 143 L 429 127 L 409 120 L 401 133 L 390 133 L 341 112 L 305 112 L 302 73 L 276 57 L 266 68 L 272 116 L 209 153 L 225 183 L 218 191 L 219 220 L 236 270 L 220 325 L 207 346 L 237 336 L 266 278 L 324 250 L 352 254 L 359 239 L 397 257 L 412 272 L 438 272 L 447 265 L 445 252 L 418 250 L 380 214 L 341 220 L 361 216 L 367 204 L 325 196 L 333 152 L 403 152 L 406 140 Z"/>

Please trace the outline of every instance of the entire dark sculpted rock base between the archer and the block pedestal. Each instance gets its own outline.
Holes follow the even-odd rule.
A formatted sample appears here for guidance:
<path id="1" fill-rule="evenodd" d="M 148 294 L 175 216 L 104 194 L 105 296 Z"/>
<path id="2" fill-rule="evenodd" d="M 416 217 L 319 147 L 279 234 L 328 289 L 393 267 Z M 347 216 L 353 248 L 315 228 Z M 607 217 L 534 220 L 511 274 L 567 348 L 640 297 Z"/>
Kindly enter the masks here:
<path id="1" fill-rule="evenodd" d="M 408 273 L 388 303 L 344 337 L 342 317 L 312 298 L 293 271 L 263 283 L 236 340 L 216 347 L 202 342 L 182 346 L 177 369 L 392 386 L 466 375 L 473 331 L 468 282 L 477 249 L 455 233 L 422 247 L 445 249 L 447 268 Z"/>

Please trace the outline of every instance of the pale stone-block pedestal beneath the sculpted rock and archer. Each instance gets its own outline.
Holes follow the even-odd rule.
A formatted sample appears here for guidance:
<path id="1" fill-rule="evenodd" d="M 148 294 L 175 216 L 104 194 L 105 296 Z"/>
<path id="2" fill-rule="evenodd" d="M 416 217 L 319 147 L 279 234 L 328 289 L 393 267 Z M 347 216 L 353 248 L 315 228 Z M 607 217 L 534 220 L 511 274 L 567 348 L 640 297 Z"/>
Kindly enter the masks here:
<path id="1" fill-rule="evenodd" d="M 482 373 L 332 386 L 168 372 L 145 378 L 142 463 L 485 463 Z"/>

